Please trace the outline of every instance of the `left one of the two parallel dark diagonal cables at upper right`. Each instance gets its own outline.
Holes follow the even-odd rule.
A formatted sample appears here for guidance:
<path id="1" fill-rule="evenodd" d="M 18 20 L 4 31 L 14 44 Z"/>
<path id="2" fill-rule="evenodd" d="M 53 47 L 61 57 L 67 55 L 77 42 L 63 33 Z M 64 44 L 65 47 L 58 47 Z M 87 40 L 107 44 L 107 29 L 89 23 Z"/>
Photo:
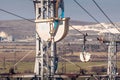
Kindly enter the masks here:
<path id="1" fill-rule="evenodd" d="M 80 5 L 80 3 L 76 0 L 73 0 L 80 8 L 82 8 L 93 20 L 95 20 L 98 24 L 100 24 L 102 27 L 104 27 L 106 29 L 106 27 L 104 25 L 102 25 L 92 14 L 90 14 L 82 5 Z M 108 32 L 110 32 L 111 34 L 113 34 L 111 31 L 109 31 L 108 29 L 106 29 Z"/>

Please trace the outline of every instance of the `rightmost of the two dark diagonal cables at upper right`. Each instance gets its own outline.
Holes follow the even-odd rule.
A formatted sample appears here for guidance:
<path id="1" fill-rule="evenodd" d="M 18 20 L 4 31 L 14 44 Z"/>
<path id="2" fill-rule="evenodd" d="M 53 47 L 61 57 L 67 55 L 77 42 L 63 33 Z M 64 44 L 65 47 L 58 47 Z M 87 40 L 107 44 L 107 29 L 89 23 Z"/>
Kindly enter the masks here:
<path id="1" fill-rule="evenodd" d="M 98 3 L 95 0 L 92 0 L 92 1 L 98 7 L 98 9 L 103 13 L 103 15 L 109 20 L 109 22 L 120 32 L 120 29 L 118 28 L 118 25 L 113 23 L 113 21 L 108 17 L 108 15 L 103 11 L 103 9 L 98 5 Z"/>

